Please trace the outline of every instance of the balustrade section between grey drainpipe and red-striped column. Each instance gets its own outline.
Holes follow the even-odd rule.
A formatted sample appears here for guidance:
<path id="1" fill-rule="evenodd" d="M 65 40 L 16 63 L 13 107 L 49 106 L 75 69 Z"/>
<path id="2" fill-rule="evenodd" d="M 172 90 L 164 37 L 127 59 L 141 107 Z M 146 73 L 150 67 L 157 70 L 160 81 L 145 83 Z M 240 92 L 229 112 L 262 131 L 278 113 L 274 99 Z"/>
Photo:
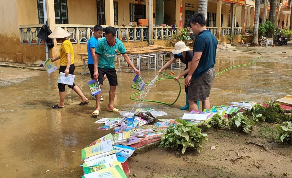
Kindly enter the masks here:
<path id="1" fill-rule="evenodd" d="M 177 34 L 177 28 L 172 29 L 171 26 L 154 26 L 153 27 L 153 40 L 166 39 L 167 36 Z"/>

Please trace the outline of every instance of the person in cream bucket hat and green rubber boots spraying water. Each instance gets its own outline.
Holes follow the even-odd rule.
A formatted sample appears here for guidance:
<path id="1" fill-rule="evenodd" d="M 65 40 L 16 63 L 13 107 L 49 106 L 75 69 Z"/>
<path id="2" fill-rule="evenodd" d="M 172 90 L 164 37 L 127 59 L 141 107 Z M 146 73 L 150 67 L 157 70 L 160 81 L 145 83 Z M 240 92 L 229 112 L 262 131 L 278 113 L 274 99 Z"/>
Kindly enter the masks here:
<path id="1" fill-rule="evenodd" d="M 157 74 L 160 74 L 164 69 L 169 67 L 177 58 L 182 61 L 186 65 L 185 71 L 182 72 L 180 75 L 176 76 L 174 78 L 175 81 L 178 81 L 180 77 L 184 76 L 184 78 L 187 76 L 187 73 L 189 72 L 188 66 L 191 64 L 191 61 L 193 59 L 193 51 L 190 51 L 190 48 L 185 46 L 185 42 L 183 41 L 178 41 L 176 44 L 174 44 L 174 50 L 172 50 L 172 54 L 174 56 L 170 61 L 168 61 L 164 66 L 157 71 Z M 185 86 L 185 98 L 186 98 L 186 104 L 184 107 L 181 107 L 181 110 L 188 110 L 189 109 L 189 101 L 188 101 L 188 86 Z M 198 105 L 198 110 L 199 110 L 199 102 L 197 102 Z"/>

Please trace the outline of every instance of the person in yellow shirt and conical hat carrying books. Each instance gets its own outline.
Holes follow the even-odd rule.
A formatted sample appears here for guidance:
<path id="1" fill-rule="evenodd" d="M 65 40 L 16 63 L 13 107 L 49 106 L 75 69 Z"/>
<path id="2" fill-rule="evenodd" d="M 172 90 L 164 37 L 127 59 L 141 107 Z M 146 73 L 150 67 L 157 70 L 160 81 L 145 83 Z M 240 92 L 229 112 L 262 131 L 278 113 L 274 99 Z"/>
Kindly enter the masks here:
<path id="1" fill-rule="evenodd" d="M 65 73 L 65 76 L 68 76 L 68 74 L 74 74 L 75 70 L 73 46 L 72 43 L 66 39 L 68 36 L 70 36 L 70 33 L 66 32 L 59 26 L 48 36 L 49 38 L 56 38 L 58 43 L 62 43 L 60 47 L 60 56 L 52 58 L 51 61 L 53 62 L 60 59 L 59 72 Z M 58 83 L 60 102 L 52 108 L 65 107 L 65 86 L 66 84 Z M 68 85 L 68 87 L 73 89 L 74 92 L 76 92 L 81 98 L 81 103 L 78 105 L 88 105 L 88 99 L 84 96 L 79 87 L 75 85 L 75 83 L 73 83 L 73 85 Z"/>

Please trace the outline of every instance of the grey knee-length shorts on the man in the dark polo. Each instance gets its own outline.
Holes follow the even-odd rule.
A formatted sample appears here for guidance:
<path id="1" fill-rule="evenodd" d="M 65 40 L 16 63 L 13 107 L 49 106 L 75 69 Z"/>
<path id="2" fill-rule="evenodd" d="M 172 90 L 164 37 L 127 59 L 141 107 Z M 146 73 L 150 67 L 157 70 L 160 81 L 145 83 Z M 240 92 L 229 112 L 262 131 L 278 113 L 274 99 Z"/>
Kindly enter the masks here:
<path id="1" fill-rule="evenodd" d="M 215 68 L 212 67 L 198 79 L 191 79 L 188 100 L 205 101 L 210 95 L 211 85 L 215 78 Z"/>

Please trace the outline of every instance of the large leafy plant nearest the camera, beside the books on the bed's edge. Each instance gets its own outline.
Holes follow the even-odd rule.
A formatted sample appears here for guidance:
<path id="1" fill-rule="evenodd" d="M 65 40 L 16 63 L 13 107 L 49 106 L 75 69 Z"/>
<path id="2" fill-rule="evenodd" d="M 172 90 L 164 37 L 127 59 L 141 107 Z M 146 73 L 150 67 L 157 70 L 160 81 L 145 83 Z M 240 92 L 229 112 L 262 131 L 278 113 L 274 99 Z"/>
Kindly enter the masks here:
<path id="1" fill-rule="evenodd" d="M 168 147 L 175 151 L 185 153 L 187 148 L 195 149 L 199 153 L 203 149 L 203 140 L 208 140 L 207 134 L 202 134 L 201 129 L 196 127 L 191 122 L 182 119 L 176 119 L 179 122 L 175 127 L 169 126 L 166 132 L 161 137 L 159 148 Z"/>

